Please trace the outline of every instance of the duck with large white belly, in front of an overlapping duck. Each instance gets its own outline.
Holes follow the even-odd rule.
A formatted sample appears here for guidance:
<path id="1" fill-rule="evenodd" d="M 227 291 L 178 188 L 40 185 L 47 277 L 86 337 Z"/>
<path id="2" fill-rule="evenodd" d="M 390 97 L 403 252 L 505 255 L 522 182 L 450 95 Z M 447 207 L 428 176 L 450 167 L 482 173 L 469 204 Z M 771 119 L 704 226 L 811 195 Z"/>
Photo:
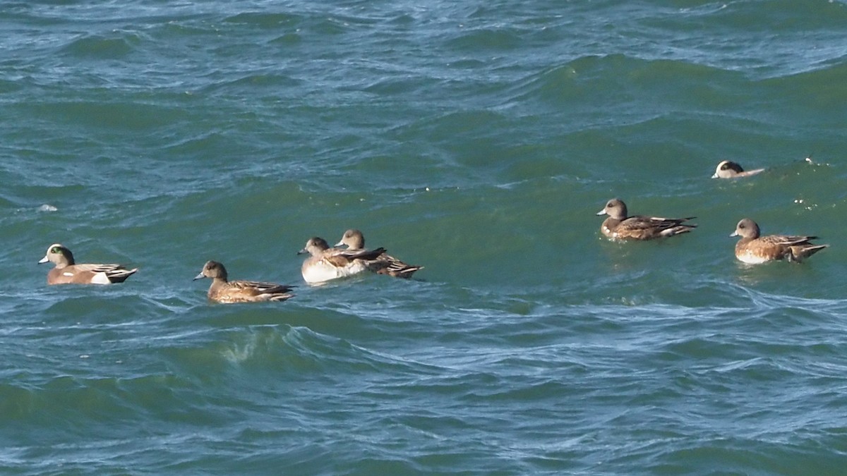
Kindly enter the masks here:
<path id="1" fill-rule="evenodd" d="M 385 248 L 371 251 L 330 248 L 323 238 L 313 236 L 297 254 L 312 255 L 303 262 L 301 272 L 303 280 L 310 285 L 315 285 L 371 271 L 371 268 L 368 268 L 368 261 L 376 259 L 384 252 Z"/>

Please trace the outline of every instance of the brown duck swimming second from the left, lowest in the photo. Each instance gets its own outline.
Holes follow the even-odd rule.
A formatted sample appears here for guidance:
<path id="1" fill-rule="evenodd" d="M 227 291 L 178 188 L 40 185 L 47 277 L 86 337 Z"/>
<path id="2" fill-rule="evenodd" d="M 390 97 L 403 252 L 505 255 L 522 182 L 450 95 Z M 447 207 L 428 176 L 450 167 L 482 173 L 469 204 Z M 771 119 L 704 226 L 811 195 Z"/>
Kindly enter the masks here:
<path id="1" fill-rule="evenodd" d="M 202 278 L 212 279 L 208 298 L 216 302 L 229 304 L 232 302 L 285 301 L 294 296 L 289 294 L 292 288 L 289 285 L 227 280 L 226 268 L 217 261 L 208 261 L 204 264 L 202 271 L 194 277 L 194 280 L 202 280 Z"/>

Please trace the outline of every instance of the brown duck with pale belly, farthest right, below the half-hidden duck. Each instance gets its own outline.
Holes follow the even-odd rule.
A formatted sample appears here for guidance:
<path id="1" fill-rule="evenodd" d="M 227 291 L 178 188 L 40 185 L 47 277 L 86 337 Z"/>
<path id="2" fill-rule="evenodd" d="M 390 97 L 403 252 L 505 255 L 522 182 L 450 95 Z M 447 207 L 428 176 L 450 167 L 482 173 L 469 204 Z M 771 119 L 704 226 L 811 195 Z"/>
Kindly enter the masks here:
<path id="1" fill-rule="evenodd" d="M 759 235 L 759 225 L 751 219 L 742 219 L 735 225 L 735 232 L 730 236 L 741 237 L 735 244 L 735 257 L 739 261 L 758 264 L 786 258 L 799 262 L 828 246 L 810 242 L 817 236 Z"/>

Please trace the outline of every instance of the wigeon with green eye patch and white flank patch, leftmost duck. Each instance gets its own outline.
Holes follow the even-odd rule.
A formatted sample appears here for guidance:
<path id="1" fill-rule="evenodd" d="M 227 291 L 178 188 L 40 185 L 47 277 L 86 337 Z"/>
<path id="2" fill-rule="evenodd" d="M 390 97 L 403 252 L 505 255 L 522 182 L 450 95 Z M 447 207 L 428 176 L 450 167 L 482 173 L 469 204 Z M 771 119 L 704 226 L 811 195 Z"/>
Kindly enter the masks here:
<path id="1" fill-rule="evenodd" d="M 76 264 L 70 250 L 53 243 L 38 263 L 55 263 L 47 273 L 48 285 L 109 285 L 123 283 L 138 268 L 127 269 L 120 264 Z"/>

